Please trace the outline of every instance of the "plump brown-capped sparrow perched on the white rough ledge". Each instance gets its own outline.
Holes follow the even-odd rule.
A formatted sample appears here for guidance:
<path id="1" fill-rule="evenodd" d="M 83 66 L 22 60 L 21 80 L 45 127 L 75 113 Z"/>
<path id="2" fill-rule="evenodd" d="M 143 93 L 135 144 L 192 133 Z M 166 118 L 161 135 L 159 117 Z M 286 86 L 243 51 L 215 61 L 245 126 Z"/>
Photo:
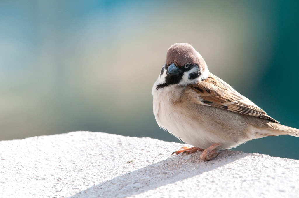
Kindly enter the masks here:
<path id="1" fill-rule="evenodd" d="M 202 151 L 200 159 L 218 156 L 249 140 L 292 135 L 299 129 L 281 125 L 260 107 L 213 75 L 192 45 L 176 43 L 152 87 L 153 112 L 160 128 L 193 145 L 173 154 Z"/>

